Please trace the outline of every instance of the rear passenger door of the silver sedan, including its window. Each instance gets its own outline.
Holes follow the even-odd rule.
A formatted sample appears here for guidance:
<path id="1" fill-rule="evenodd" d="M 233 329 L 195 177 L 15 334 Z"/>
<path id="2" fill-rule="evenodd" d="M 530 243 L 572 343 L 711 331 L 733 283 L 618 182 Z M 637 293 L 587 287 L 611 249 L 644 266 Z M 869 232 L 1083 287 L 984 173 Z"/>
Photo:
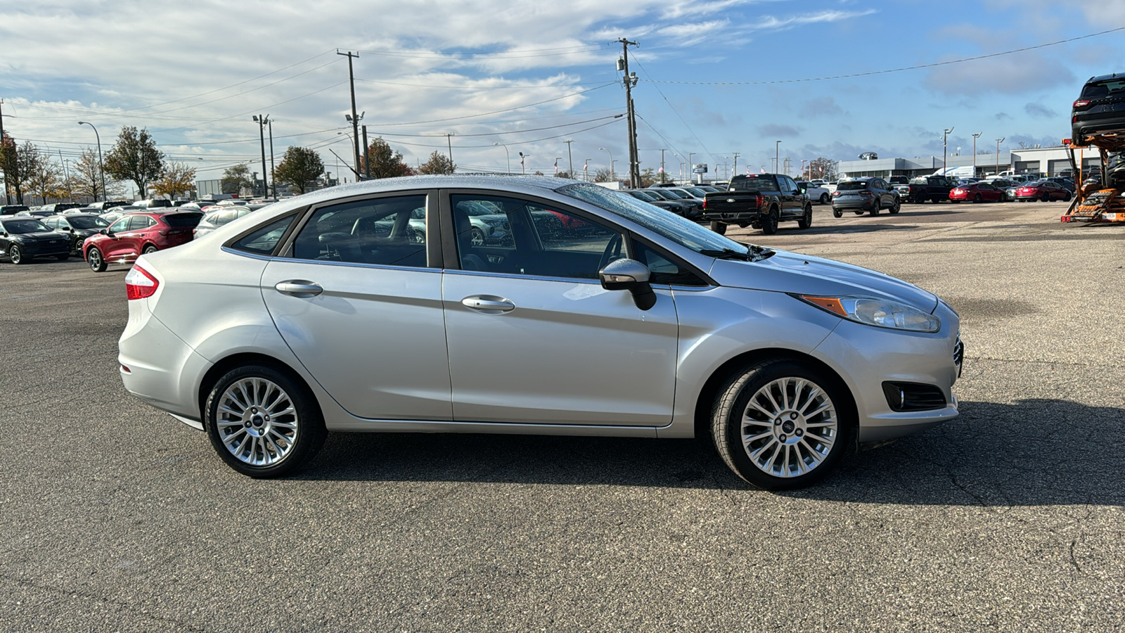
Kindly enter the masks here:
<path id="1" fill-rule="evenodd" d="M 262 296 L 302 365 L 360 418 L 450 420 L 440 252 L 411 230 L 426 191 L 314 207 L 262 274 Z M 428 211 L 426 215 L 431 215 Z M 426 223 L 429 234 L 436 225 Z"/>

